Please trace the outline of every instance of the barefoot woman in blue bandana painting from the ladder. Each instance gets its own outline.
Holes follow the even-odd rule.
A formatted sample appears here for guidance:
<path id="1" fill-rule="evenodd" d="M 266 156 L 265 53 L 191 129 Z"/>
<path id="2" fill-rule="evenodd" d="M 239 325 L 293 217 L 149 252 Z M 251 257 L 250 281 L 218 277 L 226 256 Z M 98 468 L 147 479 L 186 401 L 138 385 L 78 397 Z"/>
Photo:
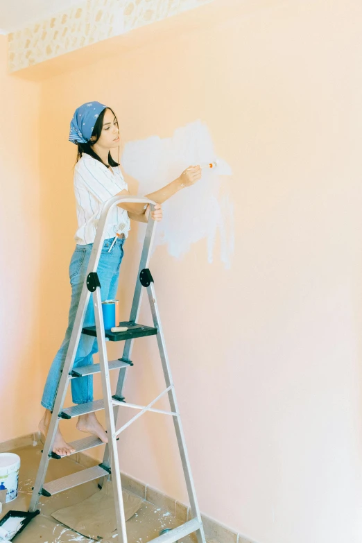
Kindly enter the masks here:
<path id="1" fill-rule="evenodd" d="M 71 307 L 69 323 L 64 340 L 55 356 L 44 387 L 42 406 L 44 416 L 39 424 L 40 431 L 46 436 L 51 420 L 51 411 L 58 389 L 62 366 L 64 365 L 71 331 L 76 317 L 85 274 L 92 252 L 96 226 L 104 202 L 113 196 L 130 196 L 127 183 L 123 179 L 119 164 L 113 160 L 110 150 L 119 147 L 119 126 L 117 117 L 110 107 L 99 102 L 90 102 L 78 107 L 71 120 L 69 141 L 78 145 L 78 160 L 74 171 L 74 191 L 78 217 L 76 249 L 71 257 L 69 279 L 71 282 Z M 190 166 L 180 178 L 162 189 L 147 194 L 146 197 L 157 202 L 152 212 L 154 221 L 162 219 L 161 204 L 184 187 L 196 183 L 201 177 L 200 166 Z M 98 277 L 101 282 L 102 300 L 115 298 L 119 280 L 119 266 L 123 257 L 123 244 L 130 230 L 130 219 L 146 223 L 149 208 L 143 204 L 121 203 L 112 208 L 108 216 L 105 241 L 98 264 Z M 84 326 L 94 326 L 94 309 L 89 301 L 85 314 Z M 80 336 L 74 368 L 93 363 L 92 355 L 98 352 L 96 339 L 92 336 Z M 74 404 L 84 404 L 93 400 L 92 376 L 78 377 L 71 380 L 71 393 Z M 95 413 L 80 415 L 77 429 L 98 436 L 107 443 L 107 434 L 98 422 Z M 53 451 L 60 456 L 74 453 L 74 449 L 64 441 L 58 428 L 53 444 Z"/>

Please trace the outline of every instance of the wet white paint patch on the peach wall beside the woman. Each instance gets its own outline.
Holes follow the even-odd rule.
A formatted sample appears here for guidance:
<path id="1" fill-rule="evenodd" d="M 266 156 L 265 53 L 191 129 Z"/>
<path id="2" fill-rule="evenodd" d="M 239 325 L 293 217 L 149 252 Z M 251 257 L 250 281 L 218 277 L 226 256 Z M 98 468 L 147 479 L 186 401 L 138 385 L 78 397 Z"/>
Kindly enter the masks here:
<path id="1" fill-rule="evenodd" d="M 232 175 L 225 160 L 217 157 L 209 129 L 195 121 L 177 128 L 173 137 L 129 141 L 123 152 L 124 171 L 139 182 L 144 195 L 160 189 L 190 165 L 216 160 L 215 169 L 202 169 L 202 178 L 192 187 L 179 191 L 164 203 L 164 219 L 157 225 L 155 246 L 166 243 L 169 254 L 182 258 L 200 239 L 207 239 L 207 257 L 214 259 L 216 236 L 220 236 L 220 259 L 231 266 L 234 252 L 234 207 L 226 194 L 220 198 L 223 175 Z M 139 229 L 144 239 L 144 228 Z"/>

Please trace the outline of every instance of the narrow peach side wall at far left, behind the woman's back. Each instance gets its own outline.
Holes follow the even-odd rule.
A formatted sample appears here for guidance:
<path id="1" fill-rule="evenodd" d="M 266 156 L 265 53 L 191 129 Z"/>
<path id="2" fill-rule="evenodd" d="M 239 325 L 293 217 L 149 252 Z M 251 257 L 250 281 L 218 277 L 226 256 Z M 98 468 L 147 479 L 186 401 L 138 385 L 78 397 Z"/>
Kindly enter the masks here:
<path id="1" fill-rule="evenodd" d="M 37 429 L 39 359 L 39 84 L 6 74 L 0 35 L 1 441 Z"/>

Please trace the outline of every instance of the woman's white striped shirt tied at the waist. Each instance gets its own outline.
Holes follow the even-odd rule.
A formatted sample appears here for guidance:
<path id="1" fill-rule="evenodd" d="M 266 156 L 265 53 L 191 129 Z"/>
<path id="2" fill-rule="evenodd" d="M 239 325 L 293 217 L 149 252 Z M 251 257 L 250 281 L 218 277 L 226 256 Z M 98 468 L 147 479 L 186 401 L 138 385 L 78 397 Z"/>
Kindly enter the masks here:
<path id="1" fill-rule="evenodd" d="M 74 168 L 74 192 L 76 195 L 78 230 L 74 239 L 78 245 L 93 243 L 103 204 L 121 192 L 128 190 L 119 166 L 110 169 L 84 153 Z M 116 232 L 128 236 L 130 218 L 126 209 L 117 205 L 112 208 L 105 228 L 105 239 L 114 238 Z"/>

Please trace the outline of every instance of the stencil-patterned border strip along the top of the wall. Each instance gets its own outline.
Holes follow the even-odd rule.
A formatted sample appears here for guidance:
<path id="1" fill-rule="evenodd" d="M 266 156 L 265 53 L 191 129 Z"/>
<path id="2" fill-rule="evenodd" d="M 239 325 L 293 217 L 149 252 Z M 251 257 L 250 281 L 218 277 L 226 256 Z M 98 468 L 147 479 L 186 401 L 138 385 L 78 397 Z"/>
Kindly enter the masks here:
<path id="1" fill-rule="evenodd" d="M 8 36 L 8 69 L 107 40 L 214 0 L 87 0 Z"/>

